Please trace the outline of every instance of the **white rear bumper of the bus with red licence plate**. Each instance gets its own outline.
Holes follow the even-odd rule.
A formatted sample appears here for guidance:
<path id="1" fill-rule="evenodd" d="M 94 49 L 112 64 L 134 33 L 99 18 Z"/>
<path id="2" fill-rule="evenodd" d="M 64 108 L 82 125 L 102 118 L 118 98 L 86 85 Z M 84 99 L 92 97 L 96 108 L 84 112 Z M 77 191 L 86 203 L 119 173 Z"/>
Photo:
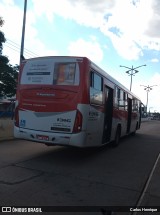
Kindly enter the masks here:
<path id="1" fill-rule="evenodd" d="M 85 147 L 86 132 L 62 134 L 42 131 L 39 132 L 14 126 L 14 136 L 19 139 L 40 142 L 46 145 L 70 145 L 75 147 Z"/>

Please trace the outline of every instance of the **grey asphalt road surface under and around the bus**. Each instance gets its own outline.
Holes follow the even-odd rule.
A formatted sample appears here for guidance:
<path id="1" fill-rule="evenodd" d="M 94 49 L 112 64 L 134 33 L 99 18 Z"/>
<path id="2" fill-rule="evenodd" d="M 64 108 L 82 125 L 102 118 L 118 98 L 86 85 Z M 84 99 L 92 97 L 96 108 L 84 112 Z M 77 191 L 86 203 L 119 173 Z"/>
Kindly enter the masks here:
<path id="1" fill-rule="evenodd" d="M 24 140 L 3 141 L 0 142 L 0 205 L 160 205 L 160 190 L 156 191 L 155 185 L 151 187 L 151 172 L 159 153 L 160 121 L 142 123 L 135 136 L 123 138 L 116 148 L 78 149 L 47 147 Z M 155 180 L 154 184 L 159 183 Z"/>

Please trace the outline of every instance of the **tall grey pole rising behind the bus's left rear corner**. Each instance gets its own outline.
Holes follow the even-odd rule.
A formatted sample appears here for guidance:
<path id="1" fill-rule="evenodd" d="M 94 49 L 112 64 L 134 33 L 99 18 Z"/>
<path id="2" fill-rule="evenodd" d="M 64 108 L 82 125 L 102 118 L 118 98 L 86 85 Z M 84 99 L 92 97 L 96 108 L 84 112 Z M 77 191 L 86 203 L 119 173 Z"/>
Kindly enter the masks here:
<path id="1" fill-rule="evenodd" d="M 24 0 L 24 14 L 23 14 L 23 26 L 22 26 L 22 38 L 21 38 L 21 50 L 20 50 L 20 61 L 19 64 L 21 65 L 21 61 L 24 58 L 24 36 L 25 36 L 25 25 L 26 25 L 26 10 L 27 10 L 27 0 Z"/>

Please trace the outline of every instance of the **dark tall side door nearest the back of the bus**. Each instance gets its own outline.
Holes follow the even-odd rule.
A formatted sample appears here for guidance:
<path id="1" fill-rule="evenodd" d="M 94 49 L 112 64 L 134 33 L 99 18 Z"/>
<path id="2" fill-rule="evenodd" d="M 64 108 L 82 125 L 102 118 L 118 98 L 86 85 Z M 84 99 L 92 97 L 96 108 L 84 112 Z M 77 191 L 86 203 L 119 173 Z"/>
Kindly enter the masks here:
<path id="1" fill-rule="evenodd" d="M 113 117 L 113 89 L 105 86 L 104 88 L 105 104 L 104 104 L 104 127 L 102 143 L 110 141 Z"/>

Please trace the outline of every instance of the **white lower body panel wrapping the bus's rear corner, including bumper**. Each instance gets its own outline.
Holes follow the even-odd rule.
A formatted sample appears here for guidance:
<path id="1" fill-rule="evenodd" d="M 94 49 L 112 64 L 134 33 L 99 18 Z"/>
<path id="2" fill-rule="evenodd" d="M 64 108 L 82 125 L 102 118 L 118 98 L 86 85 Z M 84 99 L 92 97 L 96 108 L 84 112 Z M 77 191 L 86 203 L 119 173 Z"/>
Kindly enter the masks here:
<path id="1" fill-rule="evenodd" d="M 83 116 L 82 131 L 79 133 L 72 133 L 76 110 L 63 113 L 35 113 L 23 110 L 19 111 L 20 127 L 14 126 L 14 136 L 51 145 L 78 147 L 100 145 L 104 114 L 85 104 L 79 104 L 77 109 Z M 61 129 L 66 131 L 60 131 Z"/>

